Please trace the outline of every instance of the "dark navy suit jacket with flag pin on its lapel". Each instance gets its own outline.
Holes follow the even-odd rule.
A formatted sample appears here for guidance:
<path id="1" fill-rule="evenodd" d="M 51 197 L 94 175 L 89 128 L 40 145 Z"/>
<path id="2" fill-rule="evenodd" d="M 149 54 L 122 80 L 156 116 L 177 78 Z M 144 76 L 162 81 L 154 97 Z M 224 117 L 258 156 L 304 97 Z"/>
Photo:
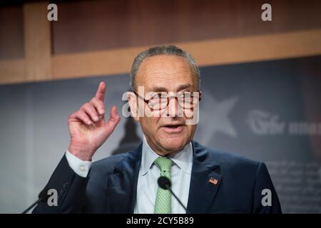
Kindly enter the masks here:
<path id="1" fill-rule="evenodd" d="M 188 212 L 281 213 L 264 163 L 211 150 L 195 141 L 192 145 Z M 133 152 L 94 162 L 86 178 L 76 175 L 63 156 L 45 187 L 58 191 L 58 206 L 40 202 L 33 212 L 133 213 L 141 151 L 142 144 Z M 217 181 L 209 182 L 210 178 Z M 262 204 L 264 189 L 272 193 L 271 206 Z"/>

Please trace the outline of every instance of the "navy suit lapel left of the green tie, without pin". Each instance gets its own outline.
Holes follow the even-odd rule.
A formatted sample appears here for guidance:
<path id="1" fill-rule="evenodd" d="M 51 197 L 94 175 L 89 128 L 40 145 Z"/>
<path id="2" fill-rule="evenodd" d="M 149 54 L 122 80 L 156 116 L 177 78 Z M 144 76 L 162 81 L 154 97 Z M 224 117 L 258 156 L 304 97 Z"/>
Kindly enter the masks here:
<path id="1" fill-rule="evenodd" d="M 136 202 L 138 172 L 141 165 L 142 144 L 115 165 L 107 178 L 109 213 L 133 213 Z"/>

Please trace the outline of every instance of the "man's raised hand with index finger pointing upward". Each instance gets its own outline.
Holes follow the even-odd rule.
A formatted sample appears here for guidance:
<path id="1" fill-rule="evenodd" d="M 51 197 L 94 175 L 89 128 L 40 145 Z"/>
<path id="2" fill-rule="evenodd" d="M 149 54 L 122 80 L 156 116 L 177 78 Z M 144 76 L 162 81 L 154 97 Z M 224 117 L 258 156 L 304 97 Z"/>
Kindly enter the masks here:
<path id="1" fill-rule="evenodd" d="M 116 106 L 111 108 L 110 118 L 105 121 L 106 84 L 101 82 L 96 95 L 89 103 L 69 115 L 68 128 L 71 142 L 68 150 L 81 160 L 90 161 L 98 147 L 103 145 L 121 120 Z"/>

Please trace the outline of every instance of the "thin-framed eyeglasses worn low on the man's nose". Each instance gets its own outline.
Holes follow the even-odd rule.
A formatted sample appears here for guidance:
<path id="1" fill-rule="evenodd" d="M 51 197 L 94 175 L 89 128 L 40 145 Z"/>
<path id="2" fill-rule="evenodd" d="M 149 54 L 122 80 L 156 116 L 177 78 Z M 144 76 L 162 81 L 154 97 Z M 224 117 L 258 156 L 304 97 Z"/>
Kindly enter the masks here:
<path id="1" fill-rule="evenodd" d="M 181 108 L 185 110 L 193 110 L 193 108 L 198 105 L 200 102 L 200 97 L 202 93 L 200 91 L 197 92 L 178 92 L 177 95 L 168 95 L 166 92 L 161 93 L 153 93 L 150 96 L 150 98 L 145 99 L 141 97 L 141 95 L 138 95 L 138 93 L 135 93 L 138 98 L 141 98 L 147 105 L 148 108 L 151 108 L 151 110 L 163 110 L 165 109 L 169 102 L 170 98 L 175 98 L 178 101 L 178 105 L 180 105 Z"/>

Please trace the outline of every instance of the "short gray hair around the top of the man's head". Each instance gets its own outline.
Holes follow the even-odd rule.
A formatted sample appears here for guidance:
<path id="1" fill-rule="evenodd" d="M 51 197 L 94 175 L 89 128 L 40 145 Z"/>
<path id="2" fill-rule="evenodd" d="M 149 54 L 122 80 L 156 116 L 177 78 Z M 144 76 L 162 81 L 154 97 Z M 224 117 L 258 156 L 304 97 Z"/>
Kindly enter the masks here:
<path id="1" fill-rule="evenodd" d="M 185 58 L 186 61 L 192 66 L 193 70 L 195 71 L 196 76 L 198 77 L 198 88 L 200 87 L 200 69 L 198 68 L 198 64 L 195 61 L 195 58 L 183 51 L 182 49 L 170 45 L 170 46 L 154 46 L 152 48 L 148 48 L 146 51 L 142 51 L 138 53 L 136 58 L 134 58 L 133 65 L 131 66 L 131 80 L 129 85 L 131 86 L 132 90 L 135 89 L 135 76 L 138 71 L 138 68 L 141 66 L 145 58 L 152 57 L 152 56 L 180 56 Z"/>

